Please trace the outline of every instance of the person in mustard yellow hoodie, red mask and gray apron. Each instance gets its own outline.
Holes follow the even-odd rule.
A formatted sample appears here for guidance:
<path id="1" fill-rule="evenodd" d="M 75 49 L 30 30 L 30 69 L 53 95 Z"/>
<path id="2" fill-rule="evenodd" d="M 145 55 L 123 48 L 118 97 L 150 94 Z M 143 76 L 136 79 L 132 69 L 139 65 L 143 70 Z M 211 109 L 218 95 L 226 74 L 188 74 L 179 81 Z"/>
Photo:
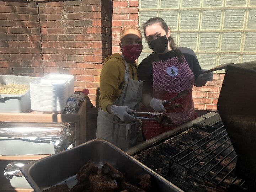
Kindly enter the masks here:
<path id="1" fill-rule="evenodd" d="M 102 137 L 122 150 L 137 143 L 140 121 L 128 113 L 140 110 L 142 84 L 135 62 L 142 52 L 138 26 L 124 26 L 120 33 L 122 54 L 105 58 L 100 78 L 96 137 Z"/>

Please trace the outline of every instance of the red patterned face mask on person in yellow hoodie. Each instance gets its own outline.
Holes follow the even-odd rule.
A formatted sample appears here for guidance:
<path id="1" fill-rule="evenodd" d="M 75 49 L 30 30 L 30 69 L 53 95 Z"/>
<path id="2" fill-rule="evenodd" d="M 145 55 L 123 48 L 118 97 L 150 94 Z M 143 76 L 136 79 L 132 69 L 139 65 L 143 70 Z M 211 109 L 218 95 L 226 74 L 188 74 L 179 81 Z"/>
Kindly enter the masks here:
<path id="1" fill-rule="evenodd" d="M 122 53 L 124 55 L 124 58 L 127 61 L 134 62 L 136 59 L 139 58 L 141 52 L 142 52 L 142 45 L 137 44 L 137 45 L 124 45 Z"/>

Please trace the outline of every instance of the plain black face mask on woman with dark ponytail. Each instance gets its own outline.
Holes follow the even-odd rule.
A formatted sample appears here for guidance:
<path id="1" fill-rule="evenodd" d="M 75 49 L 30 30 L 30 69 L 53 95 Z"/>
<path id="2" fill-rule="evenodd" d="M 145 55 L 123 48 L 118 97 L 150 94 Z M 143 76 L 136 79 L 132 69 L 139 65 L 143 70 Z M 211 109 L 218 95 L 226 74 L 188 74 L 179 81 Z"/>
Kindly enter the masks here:
<path id="1" fill-rule="evenodd" d="M 148 41 L 148 46 L 152 49 L 155 53 L 162 53 L 166 49 L 168 45 L 168 39 L 166 35 L 159 37 L 155 40 Z"/>

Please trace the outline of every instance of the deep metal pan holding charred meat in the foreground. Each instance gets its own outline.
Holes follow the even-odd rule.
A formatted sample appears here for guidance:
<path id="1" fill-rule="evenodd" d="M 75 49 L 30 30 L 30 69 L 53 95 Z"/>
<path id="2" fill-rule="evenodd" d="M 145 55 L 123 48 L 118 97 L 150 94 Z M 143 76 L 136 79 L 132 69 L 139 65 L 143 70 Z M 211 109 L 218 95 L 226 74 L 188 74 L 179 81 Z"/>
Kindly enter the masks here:
<path id="1" fill-rule="evenodd" d="M 105 140 L 91 140 L 75 148 L 33 161 L 20 167 L 20 169 L 35 192 L 41 192 L 64 182 L 71 188 L 76 183 L 77 172 L 90 159 L 98 167 L 101 167 L 105 162 L 109 162 L 123 173 L 126 181 L 131 183 L 140 174 L 150 174 L 152 178 L 151 191 L 182 191 L 132 156 Z"/>

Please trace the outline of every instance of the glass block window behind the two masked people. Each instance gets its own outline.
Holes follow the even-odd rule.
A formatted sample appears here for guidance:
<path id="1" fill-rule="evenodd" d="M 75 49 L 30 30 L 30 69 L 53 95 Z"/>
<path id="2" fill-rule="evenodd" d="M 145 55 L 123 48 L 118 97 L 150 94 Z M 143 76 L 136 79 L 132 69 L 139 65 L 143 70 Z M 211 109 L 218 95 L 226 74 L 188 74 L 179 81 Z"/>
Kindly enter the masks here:
<path id="1" fill-rule="evenodd" d="M 194 50 L 204 69 L 256 60 L 256 0 L 139 0 L 141 28 L 151 17 L 162 17 L 177 46 Z M 139 62 L 151 52 L 143 40 Z"/>

